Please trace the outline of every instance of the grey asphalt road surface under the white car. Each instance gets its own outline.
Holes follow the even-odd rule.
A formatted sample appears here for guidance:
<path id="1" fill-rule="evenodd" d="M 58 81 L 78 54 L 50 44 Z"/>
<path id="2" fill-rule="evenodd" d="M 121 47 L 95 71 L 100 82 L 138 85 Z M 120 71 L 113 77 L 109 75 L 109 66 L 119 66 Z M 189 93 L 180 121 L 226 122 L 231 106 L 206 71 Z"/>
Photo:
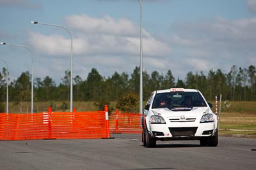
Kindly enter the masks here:
<path id="1" fill-rule="evenodd" d="M 219 138 L 157 142 L 144 148 L 141 134 L 114 139 L 0 141 L 0 169 L 256 169 L 256 139 Z"/>

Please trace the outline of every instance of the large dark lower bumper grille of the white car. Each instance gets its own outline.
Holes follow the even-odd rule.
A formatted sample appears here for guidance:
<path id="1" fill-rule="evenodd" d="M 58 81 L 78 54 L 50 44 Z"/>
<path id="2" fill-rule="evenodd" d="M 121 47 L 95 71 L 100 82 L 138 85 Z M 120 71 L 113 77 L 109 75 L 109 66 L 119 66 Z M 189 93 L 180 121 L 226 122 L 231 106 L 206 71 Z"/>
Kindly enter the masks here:
<path id="1" fill-rule="evenodd" d="M 197 127 L 169 127 L 172 136 L 195 136 Z"/>

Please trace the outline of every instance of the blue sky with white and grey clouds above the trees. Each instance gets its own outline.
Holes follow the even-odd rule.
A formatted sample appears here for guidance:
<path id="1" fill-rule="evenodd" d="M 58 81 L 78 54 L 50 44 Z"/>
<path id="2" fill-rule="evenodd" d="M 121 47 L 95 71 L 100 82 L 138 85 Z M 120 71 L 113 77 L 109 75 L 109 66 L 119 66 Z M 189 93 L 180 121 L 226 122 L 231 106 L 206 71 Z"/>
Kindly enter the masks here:
<path id="1" fill-rule="evenodd" d="M 184 80 L 193 73 L 256 63 L 256 0 L 141 0 L 143 70 Z M 74 40 L 74 76 L 86 80 L 92 68 L 106 78 L 131 74 L 140 66 L 140 5 L 137 0 L 0 0 L 0 41 L 26 45 L 35 57 L 35 77 L 57 84 L 70 69 Z M 0 46 L 12 80 L 31 72 L 28 50 Z M 0 67 L 4 67 L 0 62 Z"/>

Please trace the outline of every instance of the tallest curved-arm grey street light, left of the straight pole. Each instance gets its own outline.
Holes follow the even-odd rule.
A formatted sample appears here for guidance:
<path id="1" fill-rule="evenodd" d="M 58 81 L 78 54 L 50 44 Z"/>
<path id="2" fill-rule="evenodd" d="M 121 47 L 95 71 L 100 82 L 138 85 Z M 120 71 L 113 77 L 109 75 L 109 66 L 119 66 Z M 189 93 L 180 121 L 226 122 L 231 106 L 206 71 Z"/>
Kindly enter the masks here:
<path id="1" fill-rule="evenodd" d="M 48 26 L 53 26 L 53 27 L 60 27 L 65 29 L 68 34 L 70 35 L 70 39 L 71 39 L 71 57 L 70 57 L 70 112 L 72 112 L 73 110 L 73 38 L 71 35 L 71 32 L 64 26 L 62 25 L 56 25 L 56 24 L 46 24 L 46 23 L 42 23 L 42 22 L 37 22 L 37 21 L 31 21 L 31 24 L 40 24 L 40 25 L 48 25 Z"/>

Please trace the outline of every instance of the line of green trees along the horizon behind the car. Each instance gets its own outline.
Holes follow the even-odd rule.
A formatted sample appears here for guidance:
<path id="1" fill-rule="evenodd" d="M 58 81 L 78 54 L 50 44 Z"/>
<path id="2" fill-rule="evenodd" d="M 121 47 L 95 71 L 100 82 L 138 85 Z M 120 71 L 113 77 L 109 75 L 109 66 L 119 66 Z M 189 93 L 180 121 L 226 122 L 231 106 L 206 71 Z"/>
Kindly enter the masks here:
<path id="1" fill-rule="evenodd" d="M 7 70 L 3 67 L 0 73 L 0 102 L 6 101 Z M 51 77 L 35 78 L 34 101 L 69 101 L 70 99 L 70 71 L 65 71 L 61 83 L 56 85 Z M 135 67 L 132 74 L 115 72 L 105 78 L 97 69 L 93 68 L 86 80 L 74 76 L 74 101 L 118 101 L 127 94 L 140 94 L 140 67 Z M 185 80 L 175 80 L 172 71 L 166 74 L 153 71 L 151 74 L 143 71 L 143 101 L 146 101 L 151 92 L 157 89 L 184 87 L 198 89 L 207 100 L 214 100 L 214 96 L 222 94 L 224 100 L 255 101 L 256 68 L 249 66 L 241 68 L 232 66 L 228 73 L 220 69 L 193 73 L 189 71 Z M 20 74 L 17 80 L 9 83 L 9 101 L 20 103 L 31 101 L 31 74 L 29 71 Z"/>

